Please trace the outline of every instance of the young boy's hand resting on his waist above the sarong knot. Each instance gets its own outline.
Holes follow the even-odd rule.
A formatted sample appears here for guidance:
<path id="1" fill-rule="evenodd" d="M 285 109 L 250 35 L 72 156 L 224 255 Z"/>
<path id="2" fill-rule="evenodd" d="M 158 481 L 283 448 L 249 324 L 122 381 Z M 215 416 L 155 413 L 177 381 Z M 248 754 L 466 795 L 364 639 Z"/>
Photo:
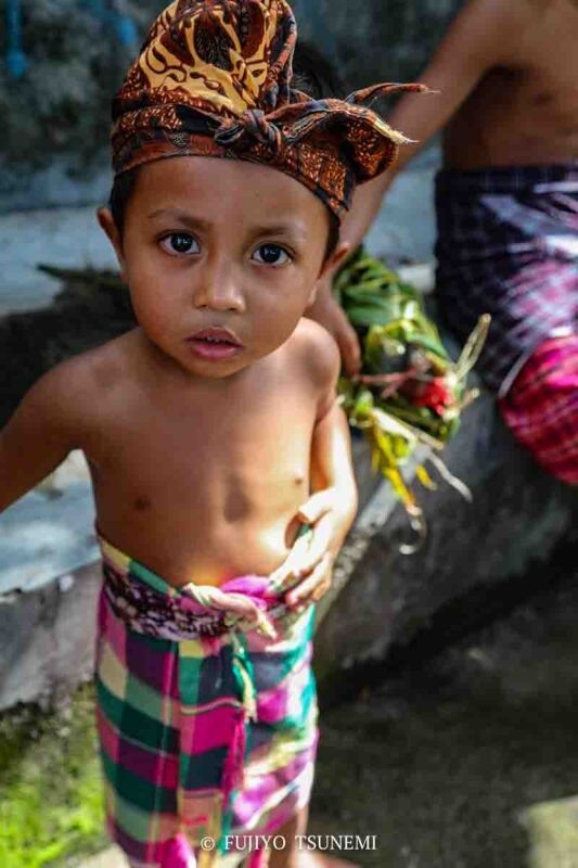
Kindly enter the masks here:
<path id="1" fill-rule="evenodd" d="M 343 540 L 351 526 L 355 503 L 336 488 L 312 495 L 297 518 L 312 533 L 299 536 L 286 561 L 271 579 L 291 588 L 285 595 L 290 609 L 319 602 L 332 583 L 332 571 Z"/>

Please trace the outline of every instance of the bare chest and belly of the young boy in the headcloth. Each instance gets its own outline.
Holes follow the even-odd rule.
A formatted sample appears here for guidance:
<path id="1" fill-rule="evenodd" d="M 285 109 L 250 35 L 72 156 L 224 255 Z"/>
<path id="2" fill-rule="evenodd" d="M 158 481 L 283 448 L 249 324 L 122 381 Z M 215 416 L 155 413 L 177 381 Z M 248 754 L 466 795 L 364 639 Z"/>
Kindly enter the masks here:
<path id="1" fill-rule="evenodd" d="M 97 350 L 79 444 L 102 536 L 175 586 L 268 575 L 309 496 L 319 395 L 295 375 L 299 339 L 223 384 L 134 365 L 136 334 Z"/>

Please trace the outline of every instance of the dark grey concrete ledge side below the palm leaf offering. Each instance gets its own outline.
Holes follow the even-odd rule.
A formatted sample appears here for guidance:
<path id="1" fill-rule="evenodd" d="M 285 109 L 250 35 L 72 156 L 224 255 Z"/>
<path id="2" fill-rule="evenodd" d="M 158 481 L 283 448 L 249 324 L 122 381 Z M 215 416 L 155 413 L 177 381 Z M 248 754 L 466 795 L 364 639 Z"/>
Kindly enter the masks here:
<path id="1" fill-rule="evenodd" d="M 577 492 L 532 461 L 506 431 L 487 394 L 467 411 L 445 461 L 474 495 L 467 503 L 447 485 L 420 499 L 428 523 L 423 550 L 399 552 L 407 519 L 399 506 L 370 535 L 348 571 L 337 605 L 316 637 L 316 669 L 337 684 L 356 664 L 383 660 L 409 643 L 431 618 L 468 592 L 500 595 L 505 583 L 524 582 L 536 563 L 548 582 L 557 545 L 576 536 Z M 576 559 L 566 564 L 576 576 Z M 492 590 L 494 589 L 494 590 Z"/>

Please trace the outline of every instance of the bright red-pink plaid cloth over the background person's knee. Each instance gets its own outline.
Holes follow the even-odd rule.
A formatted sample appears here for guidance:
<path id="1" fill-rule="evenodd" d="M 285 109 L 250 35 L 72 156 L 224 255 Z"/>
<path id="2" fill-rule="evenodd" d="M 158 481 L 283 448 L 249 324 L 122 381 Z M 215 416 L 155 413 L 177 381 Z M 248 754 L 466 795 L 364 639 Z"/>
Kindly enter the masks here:
<path id="1" fill-rule="evenodd" d="M 545 470 L 578 485 L 578 335 L 544 341 L 500 408 L 514 436 Z"/>

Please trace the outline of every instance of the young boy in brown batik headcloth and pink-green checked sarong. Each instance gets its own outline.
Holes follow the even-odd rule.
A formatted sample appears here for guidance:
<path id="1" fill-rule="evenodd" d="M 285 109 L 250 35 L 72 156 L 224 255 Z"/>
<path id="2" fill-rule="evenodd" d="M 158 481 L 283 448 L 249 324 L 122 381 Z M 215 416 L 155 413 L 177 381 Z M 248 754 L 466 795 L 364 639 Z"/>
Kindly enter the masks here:
<path id="1" fill-rule="evenodd" d="M 294 866 L 305 831 L 313 602 L 356 486 L 338 353 L 301 317 L 356 182 L 401 137 L 357 104 L 384 87 L 291 90 L 295 39 L 284 0 L 178 0 L 155 22 L 99 213 L 139 328 L 51 371 L 0 434 L 0 510 L 72 449 L 90 465 L 106 812 L 132 866 Z"/>

